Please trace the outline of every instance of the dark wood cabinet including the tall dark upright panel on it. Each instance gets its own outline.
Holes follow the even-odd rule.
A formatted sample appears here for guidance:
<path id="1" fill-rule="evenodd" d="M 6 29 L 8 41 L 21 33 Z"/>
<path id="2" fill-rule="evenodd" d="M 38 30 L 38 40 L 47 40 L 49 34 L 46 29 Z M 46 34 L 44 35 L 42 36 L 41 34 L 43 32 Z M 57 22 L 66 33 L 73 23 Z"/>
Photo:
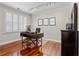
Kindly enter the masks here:
<path id="1" fill-rule="evenodd" d="M 74 3 L 71 11 L 72 29 L 61 31 L 61 55 L 62 56 L 78 56 L 78 5 Z"/>

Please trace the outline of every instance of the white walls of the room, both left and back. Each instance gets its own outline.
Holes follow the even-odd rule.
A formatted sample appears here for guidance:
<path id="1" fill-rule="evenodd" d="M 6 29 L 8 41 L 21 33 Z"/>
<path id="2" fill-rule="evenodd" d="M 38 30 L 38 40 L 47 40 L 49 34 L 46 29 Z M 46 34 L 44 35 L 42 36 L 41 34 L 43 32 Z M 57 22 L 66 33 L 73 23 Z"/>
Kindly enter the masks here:
<path id="1" fill-rule="evenodd" d="M 46 10 L 41 10 L 39 12 L 35 12 L 31 15 L 14 10 L 12 8 L 0 5 L 0 43 L 5 43 L 9 41 L 14 41 L 19 39 L 19 32 L 15 33 L 5 33 L 5 12 L 10 11 L 12 13 L 16 13 L 18 15 L 28 16 L 28 24 L 32 25 L 32 31 L 35 31 L 36 27 L 40 27 L 42 32 L 44 32 L 44 38 L 61 41 L 61 31 L 65 29 L 65 24 L 69 22 L 69 16 L 71 13 L 72 7 L 63 7 L 63 8 L 49 8 Z M 38 18 L 49 18 L 56 17 L 56 26 L 38 26 Z M 1 34 L 4 33 L 4 34 Z"/>

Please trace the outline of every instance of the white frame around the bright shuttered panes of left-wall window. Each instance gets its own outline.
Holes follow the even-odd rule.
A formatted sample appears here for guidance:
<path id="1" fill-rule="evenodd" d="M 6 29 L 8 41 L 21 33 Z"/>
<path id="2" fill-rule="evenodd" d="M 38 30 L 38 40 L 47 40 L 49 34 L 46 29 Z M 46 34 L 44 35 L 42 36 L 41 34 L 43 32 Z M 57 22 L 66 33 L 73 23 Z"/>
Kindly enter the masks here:
<path id="1" fill-rule="evenodd" d="M 7 14 L 7 13 L 10 13 L 10 12 L 6 12 L 6 14 Z M 6 20 L 6 21 L 5 21 L 5 24 L 7 24 L 7 18 L 6 18 L 6 17 L 10 17 L 10 16 L 7 16 L 6 14 L 5 14 L 5 20 Z M 25 19 L 26 19 L 26 25 L 27 25 L 27 16 L 26 16 L 26 15 L 18 15 L 18 14 L 16 14 L 16 13 L 10 13 L 10 14 L 11 14 L 11 17 L 12 17 L 12 20 L 11 20 L 11 21 L 12 21 L 12 26 L 11 26 L 11 29 L 12 29 L 12 30 L 11 30 L 11 31 L 7 30 L 7 25 L 6 25 L 6 27 L 5 27 L 6 33 L 15 33 L 15 32 L 24 31 L 25 29 L 24 29 L 24 24 L 23 24 L 23 22 L 24 22 L 24 18 L 25 18 Z M 17 30 L 16 30 L 16 31 L 14 31 L 14 29 L 13 29 L 13 24 L 14 24 L 14 22 L 13 22 L 13 16 L 14 16 L 14 15 L 17 16 L 17 18 L 16 18 L 16 19 L 17 19 L 17 22 L 16 22 L 16 23 L 17 23 Z M 20 20 L 20 19 L 19 19 L 19 16 L 22 16 L 22 30 L 19 30 L 19 26 L 20 26 L 20 25 L 19 25 L 19 24 L 20 24 L 20 23 L 19 23 L 19 20 Z M 20 29 L 21 29 L 21 28 L 20 28 Z"/>

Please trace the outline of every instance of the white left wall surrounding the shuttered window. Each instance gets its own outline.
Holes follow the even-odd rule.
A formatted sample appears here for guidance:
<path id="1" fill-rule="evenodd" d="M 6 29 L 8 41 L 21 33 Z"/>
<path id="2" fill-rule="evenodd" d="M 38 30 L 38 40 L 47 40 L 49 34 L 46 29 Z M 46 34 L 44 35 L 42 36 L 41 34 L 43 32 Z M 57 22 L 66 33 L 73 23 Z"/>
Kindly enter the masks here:
<path id="1" fill-rule="evenodd" d="M 14 32 L 14 33 L 6 33 L 5 32 L 5 13 L 6 12 L 11 12 L 15 13 L 17 15 L 24 15 L 27 16 L 27 23 L 30 24 L 31 21 L 31 15 L 9 8 L 4 5 L 0 5 L 0 44 L 9 42 L 9 41 L 14 41 L 20 38 L 20 33 L 19 32 Z"/>

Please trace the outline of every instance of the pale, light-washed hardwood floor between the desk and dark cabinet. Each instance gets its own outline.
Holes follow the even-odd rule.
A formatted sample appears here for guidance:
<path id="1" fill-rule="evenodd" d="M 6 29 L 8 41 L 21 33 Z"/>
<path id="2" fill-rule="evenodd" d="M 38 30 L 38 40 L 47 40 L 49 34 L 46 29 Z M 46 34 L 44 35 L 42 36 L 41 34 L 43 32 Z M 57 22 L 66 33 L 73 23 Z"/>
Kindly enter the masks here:
<path id="1" fill-rule="evenodd" d="M 61 44 L 55 41 L 48 41 L 42 47 L 42 53 L 46 56 L 60 56 Z"/>

